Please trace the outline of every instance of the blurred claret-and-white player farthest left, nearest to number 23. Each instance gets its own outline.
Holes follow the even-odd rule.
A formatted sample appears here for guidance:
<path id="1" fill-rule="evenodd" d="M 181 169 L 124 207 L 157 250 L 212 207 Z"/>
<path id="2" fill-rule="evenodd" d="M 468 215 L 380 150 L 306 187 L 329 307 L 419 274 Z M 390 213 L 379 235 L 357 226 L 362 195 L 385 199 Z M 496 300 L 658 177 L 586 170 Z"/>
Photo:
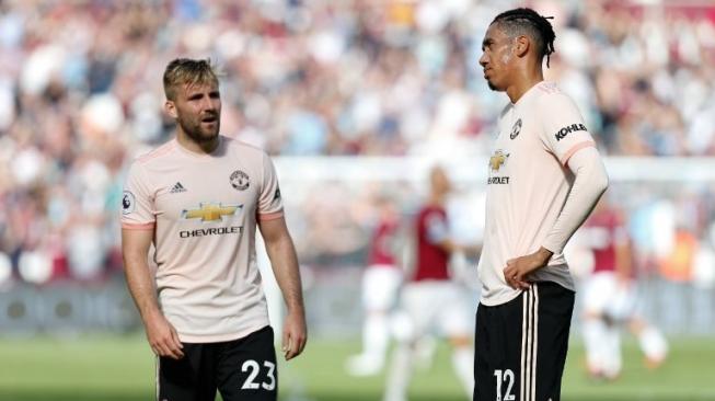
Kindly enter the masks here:
<path id="1" fill-rule="evenodd" d="M 399 210 L 388 195 L 378 195 L 374 204 L 377 225 L 362 275 L 362 353 L 351 356 L 346 364 L 353 376 L 376 375 L 382 369 L 390 344 L 391 313 L 402 285 L 402 267 L 395 255 Z"/>

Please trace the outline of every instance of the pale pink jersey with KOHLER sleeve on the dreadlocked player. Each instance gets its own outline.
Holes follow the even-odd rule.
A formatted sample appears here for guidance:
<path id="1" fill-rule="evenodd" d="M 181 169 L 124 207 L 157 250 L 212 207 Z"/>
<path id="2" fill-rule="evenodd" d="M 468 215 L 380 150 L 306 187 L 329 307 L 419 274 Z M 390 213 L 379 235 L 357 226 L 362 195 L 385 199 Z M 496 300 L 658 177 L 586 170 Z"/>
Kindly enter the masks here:
<path id="1" fill-rule="evenodd" d="M 487 306 L 521 293 L 506 284 L 507 261 L 542 247 L 574 181 L 568 159 L 595 146 L 575 103 L 553 82 L 541 82 L 507 105 L 498 130 L 487 167 L 486 225 L 477 267 L 481 301 Z M 574 289 L 563 253 L 528 278 Z"/>

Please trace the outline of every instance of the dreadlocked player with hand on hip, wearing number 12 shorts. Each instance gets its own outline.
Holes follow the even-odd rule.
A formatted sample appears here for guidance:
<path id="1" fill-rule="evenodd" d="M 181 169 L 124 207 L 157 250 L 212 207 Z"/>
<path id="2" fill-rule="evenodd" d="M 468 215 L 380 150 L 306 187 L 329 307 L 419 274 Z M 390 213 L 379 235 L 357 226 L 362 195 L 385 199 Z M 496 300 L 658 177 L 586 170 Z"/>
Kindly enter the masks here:
<path id="1" fill-rule="evenodd" d="M 557 401 L 574 308 L 563 249 L 608 186 L 574 102 L 543 81 L 549 20 L 515 9 L 489 24 L 480 58 L 510 103 L 488 162 L 474 400 Z"/>

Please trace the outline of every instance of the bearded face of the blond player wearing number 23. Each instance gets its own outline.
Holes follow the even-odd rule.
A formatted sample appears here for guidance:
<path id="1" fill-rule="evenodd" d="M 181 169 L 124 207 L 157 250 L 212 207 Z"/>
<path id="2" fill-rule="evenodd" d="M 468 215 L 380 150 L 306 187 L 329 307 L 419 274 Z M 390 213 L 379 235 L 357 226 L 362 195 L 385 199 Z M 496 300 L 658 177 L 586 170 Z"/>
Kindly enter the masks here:
<path id="1" fill-rule="evenodd" d="M 176 123 L 195 142 L 216 139 L 221 126 L 221 96 L 218 82 L 185 84 L 173 102 Z"/>

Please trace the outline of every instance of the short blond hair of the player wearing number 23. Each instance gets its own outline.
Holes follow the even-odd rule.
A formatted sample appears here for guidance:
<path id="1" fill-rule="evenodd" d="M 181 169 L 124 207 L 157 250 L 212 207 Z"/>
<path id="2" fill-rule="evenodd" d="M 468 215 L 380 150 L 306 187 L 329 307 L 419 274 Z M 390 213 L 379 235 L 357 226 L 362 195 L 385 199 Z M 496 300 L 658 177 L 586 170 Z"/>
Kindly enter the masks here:
<path id="1" fill-rule="evenodd" d="M 218 75 L 210 59 L 194 60 L 176 58 L 164 70 L 164 94 L 168 100 L 176 99 L 176 90 L 183 84 L 218 83 Z"/>

